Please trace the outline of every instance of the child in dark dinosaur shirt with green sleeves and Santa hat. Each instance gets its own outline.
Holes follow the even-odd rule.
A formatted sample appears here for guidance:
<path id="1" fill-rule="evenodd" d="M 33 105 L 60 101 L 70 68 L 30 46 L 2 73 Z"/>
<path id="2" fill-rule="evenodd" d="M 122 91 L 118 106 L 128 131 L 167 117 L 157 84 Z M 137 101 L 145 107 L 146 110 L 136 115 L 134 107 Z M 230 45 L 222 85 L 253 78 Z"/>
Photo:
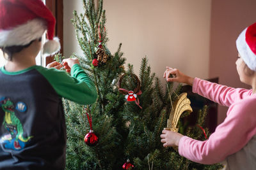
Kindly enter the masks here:
<path id="1" fill-rule="evenodd" d="M 71 76 L 58 70 L 58 62 L 36 66 L 45 30 L 49 41 L 43 52 L 60 50 L 54 26 L 55 18 L 41 0 L 0 0 L 0 48 L 8 59 L 0 70 L 0 169 L 65 169 L 61 97 L 79 104 L 97 100 L 79 60 L 63 60 Z"/>

